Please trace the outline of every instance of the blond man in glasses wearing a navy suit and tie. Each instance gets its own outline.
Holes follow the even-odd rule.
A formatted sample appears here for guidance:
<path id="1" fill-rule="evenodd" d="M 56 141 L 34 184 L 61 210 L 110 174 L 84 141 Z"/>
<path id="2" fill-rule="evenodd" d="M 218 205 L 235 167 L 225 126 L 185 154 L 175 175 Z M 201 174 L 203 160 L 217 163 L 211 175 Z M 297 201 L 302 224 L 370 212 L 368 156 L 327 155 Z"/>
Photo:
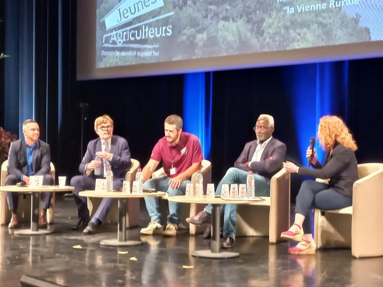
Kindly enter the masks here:
<path id="1" fill-rule="evenodd" d="M 78 193 L 94 190 L 96 178 L 104 178 L 107 167 L 111 167 L 113 172 L 113 189 L 121 189 L 126 172 L 131 166 L 128 141 L 113 135 L 113 120 L 110 116 L 97 117 L 94 121 L 94 130 L 98 138 L 89 141 L 87 151 L 78 168 L 84 175 L 76 175 L 70 181 L 71 186 L 74 187 L 73 196 L 79 218 L 73 230 L 83 230 L 83 234 L 93 234 L 96 226 L 103 223 L 114 199 L 104 198 L 90 220 L 87 198 L 79 196 Z"/>

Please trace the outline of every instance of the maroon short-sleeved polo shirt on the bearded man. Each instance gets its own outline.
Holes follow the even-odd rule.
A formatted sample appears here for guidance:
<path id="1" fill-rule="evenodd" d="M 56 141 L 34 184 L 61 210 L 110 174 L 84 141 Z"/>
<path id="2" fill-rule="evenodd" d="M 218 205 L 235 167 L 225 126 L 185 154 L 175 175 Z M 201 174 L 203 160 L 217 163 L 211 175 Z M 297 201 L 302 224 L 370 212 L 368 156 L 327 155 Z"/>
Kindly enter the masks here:
<path id="1" fill-rule="evenodd" d="M 154 146 L 150 158 L 162 161 L 162 166 L 170 177 L 176 177 L 190 168 L 192 163 L 201 162 L 204 159 L 198 138 L 187 132 L 181 133 L 178 145 L 176 146 L 170 144 L 165 136 L 160 138 Z M 172 162 L 176 173 L 170 175 Z"/>

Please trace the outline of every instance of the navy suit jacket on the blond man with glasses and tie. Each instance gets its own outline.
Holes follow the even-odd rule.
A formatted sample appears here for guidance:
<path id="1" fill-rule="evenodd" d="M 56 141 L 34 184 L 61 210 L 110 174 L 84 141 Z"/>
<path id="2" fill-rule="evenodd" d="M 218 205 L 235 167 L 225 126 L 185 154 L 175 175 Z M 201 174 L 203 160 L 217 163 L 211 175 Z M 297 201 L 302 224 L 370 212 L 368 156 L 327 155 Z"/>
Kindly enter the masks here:
<path id="1" fill-rule="evenodd" d="M 96 152 L 102 151 L 101 139 L 98 137 L 89 141 L 87 151 L 84 155 L 82 162 L 78 168 L 80 173 L 85 172 L 85 166 L 96 157 Z M 126 172 L 132 165 L 130 160 L 130 150 L 128 141 L 118 135 L 112 135 L 110 153 L 113 154 L 113 158 L 110 161 L 114 178 L 125 179 Z M 94 172 L 90 176 L 96 178 Z"/>

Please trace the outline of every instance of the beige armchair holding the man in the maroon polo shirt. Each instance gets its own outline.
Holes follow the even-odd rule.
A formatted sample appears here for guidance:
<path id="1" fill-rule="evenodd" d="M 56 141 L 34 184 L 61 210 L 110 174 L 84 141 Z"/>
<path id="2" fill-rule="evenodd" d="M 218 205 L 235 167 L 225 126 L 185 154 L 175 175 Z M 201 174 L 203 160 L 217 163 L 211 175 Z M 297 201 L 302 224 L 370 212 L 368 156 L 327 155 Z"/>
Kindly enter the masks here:
<path id="1" fill-rule="evenodd" d="M 201 162 L 201 165 L 202 165 L 201 174 L 204 178 L 204 192 L 206 193 L 207 185 L 208 185 L 208 183 L 211 183 L 211 162 L 209 160 L 204 159 Z M 153 172 L 152 178 L 156 178 L 156 177 L 159 177 L 162 175 L 166 175 L 166 173 L 165 173 L 163 168 L 160 168 L 160 169 L 156 170 L 155 172 Z M 191 177 L 191 182 L 193 183 L 193 185 L 195 185 L 195 175 L 196 175 L 196 173 L 193 173 L 193 175 Z M 162 199 L 167 200 L 168 194 L 164 195 L 162 197 Z M 190 224 L 190 226 L 189 226 L 189 223 L 186 222 L 186 218 L 188 218 L 189 216 L 196 215 L 198 212 L 203 210 L 204 207 L 205 207 L 205 204 L 191 203 L 190 207 L 189 207 L 189 204 L 183 203 L 181 206 L 181 214 L 180 214 L 180 224 L 179 224 L 180 228 L 187 229 L 189 227 L 190 234 L 203 233 L 204 230 L 206 229 L 206 225 L 198 227 L 198 226 L 195 226 L 193 224 Z M 168 210 L 167 204 L 162 204 L 161 210 Z M 163 219 L 165 219 L 165 218 L 163 218 Z M 166 220 L 164 220 L 164 222 L 166 222 Z"/>

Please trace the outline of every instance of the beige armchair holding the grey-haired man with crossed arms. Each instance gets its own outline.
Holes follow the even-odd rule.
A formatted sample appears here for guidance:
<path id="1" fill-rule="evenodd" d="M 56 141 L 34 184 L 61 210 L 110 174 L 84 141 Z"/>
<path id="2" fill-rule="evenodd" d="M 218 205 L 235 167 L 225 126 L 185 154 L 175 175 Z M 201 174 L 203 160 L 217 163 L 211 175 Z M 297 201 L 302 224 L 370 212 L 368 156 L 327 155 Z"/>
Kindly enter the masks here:
<path id="1" fill-rule="evenodd" d="M 236 236 L 269 236 L 282 241 L 280 233 L 290 227 L 290 173 L 281 169 L 270 182 L 270 197 L 260 203 L 239 204 Z"/>

